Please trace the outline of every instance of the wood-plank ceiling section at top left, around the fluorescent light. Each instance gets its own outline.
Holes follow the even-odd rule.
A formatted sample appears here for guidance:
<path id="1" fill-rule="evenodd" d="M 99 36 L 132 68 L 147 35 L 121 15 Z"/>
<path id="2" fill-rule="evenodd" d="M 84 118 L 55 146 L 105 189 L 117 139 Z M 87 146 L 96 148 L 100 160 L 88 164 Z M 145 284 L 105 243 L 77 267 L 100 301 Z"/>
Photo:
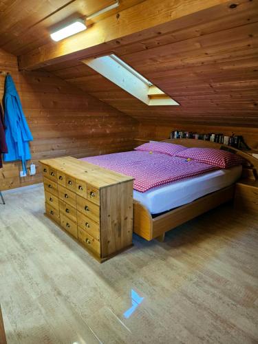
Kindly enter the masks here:
<path id="1" fill-rule="evenodd" d="M 87 26 L 142 1 L 120 0 L 119 8 L 87 21 Z M 41 45 L 53 43 L 50 33 L 55 28 L 114 3 L 116 0 L 1 1 L 0 47 L 15 55 L 27 54 Z"/>

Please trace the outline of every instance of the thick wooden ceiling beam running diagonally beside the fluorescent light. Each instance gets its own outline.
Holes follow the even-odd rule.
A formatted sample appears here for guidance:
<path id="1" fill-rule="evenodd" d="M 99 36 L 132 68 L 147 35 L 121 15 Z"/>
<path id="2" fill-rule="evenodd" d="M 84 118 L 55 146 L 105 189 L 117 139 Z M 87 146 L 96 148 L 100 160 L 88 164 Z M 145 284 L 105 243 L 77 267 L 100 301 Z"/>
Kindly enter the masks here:
<path id="1" fill-rule="evenodd" d="M 177 30 L 185 25 L 183 17 L 197 15 L 196 19 L 202 21 L 209 8 L 222 5 L 218 10 L 225 10 L 229 4 L 228 0 L 146 0 L 95 23 L 85 32 L 19 56 L 19 68 L 31 70 L 74 58 L 106 54 L 118 46 L 156 36 L 160 29 L 162 33 Z M 204 11 L 201 17 L 200 11 Z M 169 24 L 167 28 L 166 24 Z"/>

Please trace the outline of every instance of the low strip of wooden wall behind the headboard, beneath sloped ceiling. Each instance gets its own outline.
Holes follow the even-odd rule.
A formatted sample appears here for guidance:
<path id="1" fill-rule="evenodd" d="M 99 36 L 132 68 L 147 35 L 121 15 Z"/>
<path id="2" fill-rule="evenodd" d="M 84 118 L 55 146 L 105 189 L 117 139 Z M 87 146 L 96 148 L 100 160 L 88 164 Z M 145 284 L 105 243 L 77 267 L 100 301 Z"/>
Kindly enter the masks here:
<path id="1" fill-rule="evenodd" d="M 225 127 L 215 125 L 191 125 L 191 124 L 177 124 L 167 122 L 166 124 L 158 124 L 158 122 L 140 122 L 138 127 L 138 138 L 146 140 L 166 140 L 170 138 L 170 133 L 173 130 L 193 131 L 196 133 L 224 133 L 224 135 L 231 136 L 241 135 L 245 142 L 251 148 L 258 148 L 258 128 L 250 127 Z M 138 142 L 140 144 L 140 142 Z"/>

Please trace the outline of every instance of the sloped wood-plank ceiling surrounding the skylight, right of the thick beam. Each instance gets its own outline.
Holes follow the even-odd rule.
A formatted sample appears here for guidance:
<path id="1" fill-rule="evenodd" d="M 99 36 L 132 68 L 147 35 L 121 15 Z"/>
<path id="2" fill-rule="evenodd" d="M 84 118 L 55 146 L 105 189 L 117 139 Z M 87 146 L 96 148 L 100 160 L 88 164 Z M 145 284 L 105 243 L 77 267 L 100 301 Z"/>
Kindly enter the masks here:
<path id="1" fill-rule="evenodd" d="M 211 25 L 211 22 L 207 24 L 208 27 L 211 25 L 215 32 L 208 32 L 207 29 L 203 34 L 203 28 L 203 31 L 198 33 L 199 36 L 192 37 L 194 28 L 199 25 L 196 21 L 191 30 L 187 27 L 185 31 L 178 31 L 176 39 L 179 41 L 175 42 L 173 34 L 170 39 L 169 34 L 166 39 L 163 39 L 161 34 L 159 43 L 166 45 L 160 48 L 157 48 L 155 43 L 151 45 L 151 40 L 149 49 L 142 44 L 145 43 L 144 40 L 125 45 L 130 53 L 122 58 L 126 59 L 130 54 L 134 58 L 139 54 L 140 57 L 137 56 L 135 61 L 130 62 L 132 67 L 179 101 L 181 106 L 177 109 L 168 106 L 150 108 L 100 74 L 90 72 L 86 65 L 87 70 L 82 66 L 78 67 L 78 60 L 74 64 L 68 61 L 48 69 L 68 83 L 140 121 L 175 119 L 184 123 L 196 122 L 197 125 L 206 121 L 213 125 L 224 123 L 255 127 L 258 126 L 258 30 L 254 21 L 257 16 L 253 14 L 252 23 L 249 21 L 247 25 L 242 25 L 244 20 L 247 21 L 250 12 L 247 13 L 246 1 L 242 1 L 241 6 L 242 9 L 245 7 L 246 14 L 240 15 L 241 12 L 238 12 L 239 21 L 234 19 L 236 28 L 231 25 L 230 28 L 221 30 L 222 23 L 231 23 L 231 17 L 235 18 L 233 12 L 231 16 L 228 13 L 223 21 L 217 20 L 217 28 Z M 219 36 L 222 36 L 222 39 Z M 188 44 L 184 46 L 183 40 Z M 118 50 L 122 52 L 123 49 L 124 47 L 120 47 Z M 209 55 L 205 54 L 207 51 Z"/>

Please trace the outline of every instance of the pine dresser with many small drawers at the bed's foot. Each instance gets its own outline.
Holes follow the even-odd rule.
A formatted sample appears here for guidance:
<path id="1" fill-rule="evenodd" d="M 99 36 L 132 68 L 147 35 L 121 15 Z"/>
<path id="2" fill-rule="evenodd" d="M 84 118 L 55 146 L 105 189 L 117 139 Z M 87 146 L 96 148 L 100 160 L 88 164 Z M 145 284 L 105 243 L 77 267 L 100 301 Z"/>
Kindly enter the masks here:
<path id="1" fill-rule="evenodd" d="M 72 157 L 41 164 L 50 219 L 100 262 L 132 246 L 133 178 Z"/>

